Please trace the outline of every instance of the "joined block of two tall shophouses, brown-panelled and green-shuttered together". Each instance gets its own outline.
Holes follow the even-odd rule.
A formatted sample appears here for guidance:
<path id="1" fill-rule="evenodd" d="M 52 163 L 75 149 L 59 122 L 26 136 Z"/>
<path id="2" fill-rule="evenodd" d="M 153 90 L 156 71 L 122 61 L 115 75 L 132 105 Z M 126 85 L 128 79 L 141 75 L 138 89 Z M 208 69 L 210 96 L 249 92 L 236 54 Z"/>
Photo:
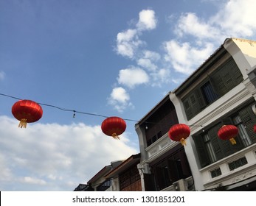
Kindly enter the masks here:
<path id="1" fill-rule="evenodd" d="M 140 166 L 156 191 L 256 190 L 255 73 L 256 42 L 228 38 L 135 125 Z M 165 102 L 171 118 L 160 112 Z M 167 136 L 178 123 L 190 127 L 186 146 Z M 238 127 L 235 145 L 218 138 L 227 124 Z"/>

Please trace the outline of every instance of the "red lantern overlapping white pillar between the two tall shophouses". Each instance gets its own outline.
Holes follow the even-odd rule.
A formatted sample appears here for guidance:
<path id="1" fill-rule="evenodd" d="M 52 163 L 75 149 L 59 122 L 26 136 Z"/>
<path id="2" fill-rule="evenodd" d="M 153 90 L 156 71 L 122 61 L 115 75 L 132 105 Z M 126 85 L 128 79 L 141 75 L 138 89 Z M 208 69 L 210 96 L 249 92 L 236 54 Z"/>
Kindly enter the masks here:
<path id="1" fill-rule="evenodd" d="M 173 141 L 180 141 L 182 145 L 186 145 L 185 139 L 190 135 L 190 127 L 187 124 L 174 124 L 168 132 L 169 138 Z"/>

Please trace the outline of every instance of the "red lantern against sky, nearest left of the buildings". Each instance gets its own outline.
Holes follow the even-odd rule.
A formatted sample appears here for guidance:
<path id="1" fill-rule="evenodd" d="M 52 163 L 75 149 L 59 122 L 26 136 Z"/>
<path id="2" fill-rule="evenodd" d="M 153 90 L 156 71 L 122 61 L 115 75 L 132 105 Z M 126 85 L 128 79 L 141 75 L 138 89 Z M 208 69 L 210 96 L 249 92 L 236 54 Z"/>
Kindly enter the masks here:
<path id="1" fill-rule="evenodd" d="M 117 116 L 106 118 L 101 124 L 101 129 L 105 135 L 112 136 L 114 139 L 120 139 L 118 135 L 125 132 L 125 121 Z"/>

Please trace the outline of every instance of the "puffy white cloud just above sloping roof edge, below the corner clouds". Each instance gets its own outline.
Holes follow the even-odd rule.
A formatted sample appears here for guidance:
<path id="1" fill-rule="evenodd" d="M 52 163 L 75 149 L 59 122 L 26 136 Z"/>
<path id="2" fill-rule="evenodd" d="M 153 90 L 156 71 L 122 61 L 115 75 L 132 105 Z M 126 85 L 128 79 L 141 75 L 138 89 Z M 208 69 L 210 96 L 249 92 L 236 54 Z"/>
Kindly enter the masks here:
<path id="1" fill-rule="evenodd" d="M 212 43 L 206 43 L 204 47 L 191 46 L 190 43 L 179 43 L 170 40 L 164 43 L 167 54 L 165 60 L 170 62 L 173 68 L 183 74 L 190 74 L 196 70 L 212 54 Z"/>

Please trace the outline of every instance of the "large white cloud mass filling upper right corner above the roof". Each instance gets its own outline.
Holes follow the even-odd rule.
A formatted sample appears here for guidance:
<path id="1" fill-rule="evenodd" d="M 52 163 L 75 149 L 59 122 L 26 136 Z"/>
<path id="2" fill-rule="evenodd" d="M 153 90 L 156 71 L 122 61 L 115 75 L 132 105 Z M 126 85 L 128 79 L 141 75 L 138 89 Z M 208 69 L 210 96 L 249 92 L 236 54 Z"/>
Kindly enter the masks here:
<path id="1" fill-rule="evenodd" d="M 175 33 L 180 39 L 164 43 L 167 52 L 165 60 L 176 71 L 190 74 L 226 38 L 248 38 L 256 32 L 255 7 L 254 0 L 234 0 L 220 4 L 218 13 L 206 20 L 199 18 L 196 13 L 181 14 L 175 26 Z M 187 38 L 187 35 L 192 35 L 194 40 L 182 42 L 181 39 Z"/>

